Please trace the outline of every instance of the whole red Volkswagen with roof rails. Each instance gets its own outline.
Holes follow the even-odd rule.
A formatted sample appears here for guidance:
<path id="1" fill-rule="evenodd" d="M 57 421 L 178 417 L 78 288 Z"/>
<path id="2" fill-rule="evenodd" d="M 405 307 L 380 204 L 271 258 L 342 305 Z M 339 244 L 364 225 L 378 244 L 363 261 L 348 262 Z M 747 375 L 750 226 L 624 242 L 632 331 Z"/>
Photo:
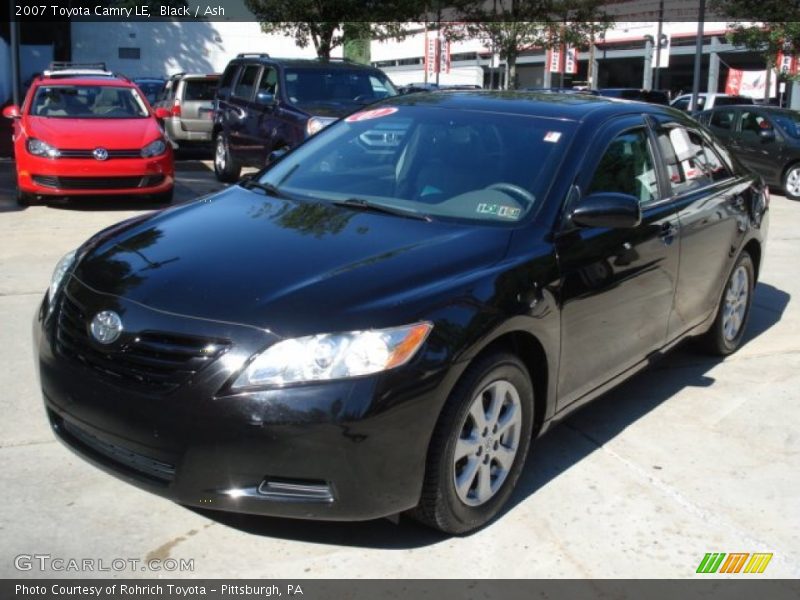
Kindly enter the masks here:
<path id="1" fill-rule="evenodd" d="M 104 65 L 56 63 L 31 84 L 14 120 L 17 201 L 148 195 L 172 200 L 172 148 L 139 88 Z"/>

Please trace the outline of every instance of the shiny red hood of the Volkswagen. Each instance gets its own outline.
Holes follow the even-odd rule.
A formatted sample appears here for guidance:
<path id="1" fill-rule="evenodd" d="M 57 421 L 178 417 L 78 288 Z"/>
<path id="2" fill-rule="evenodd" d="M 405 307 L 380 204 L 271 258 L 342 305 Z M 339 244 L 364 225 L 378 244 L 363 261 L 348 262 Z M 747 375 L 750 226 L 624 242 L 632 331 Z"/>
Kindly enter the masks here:
<path id="1" fill-rule="evenodd" d="M 27 133 L 56 148 L 109 150 L 141 148 L 162 137 L 155 119 L 61 119 L 29 117 Z"/>

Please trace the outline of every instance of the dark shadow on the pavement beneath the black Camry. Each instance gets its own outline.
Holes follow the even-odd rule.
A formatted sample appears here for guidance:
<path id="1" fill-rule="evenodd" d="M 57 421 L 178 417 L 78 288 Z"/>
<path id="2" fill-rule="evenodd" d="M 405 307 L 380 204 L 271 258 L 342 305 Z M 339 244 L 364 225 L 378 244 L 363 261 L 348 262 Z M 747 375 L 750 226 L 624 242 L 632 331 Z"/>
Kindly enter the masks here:
<path id="1" fill-rule="evenodd" d="M 754 295 L 745 343 L 780 321 L 791 296 L 769 284 L 759 283 Z M 707 375 L 722 359 L 702 355 L 691 341 L 681 345 L 649 369 L 597 398 L 555 426 L 533 445 L 517 488 L 498 519 L 552 479 L 609 442 L 631 424 L 687 387 L 709 387 Z M 576 421 L 590 422 L 591 433 Z M 575 437 L 582 439 L 576 443 Z M 658 468 L 654 465 L 653 468 Z M 188 507 L 187 507 L 188 508 Z M 335 544 L 389 550 L 405 550 L 438 544 L 450 536 L 401 516 L 400 525 L 388 519 L 364 522 L 325 522 L 280 519 L 190 508 L 222 525 L 244 533 L 317 544 Z M 490 527 L 491 523 L 487 525 Z"/>

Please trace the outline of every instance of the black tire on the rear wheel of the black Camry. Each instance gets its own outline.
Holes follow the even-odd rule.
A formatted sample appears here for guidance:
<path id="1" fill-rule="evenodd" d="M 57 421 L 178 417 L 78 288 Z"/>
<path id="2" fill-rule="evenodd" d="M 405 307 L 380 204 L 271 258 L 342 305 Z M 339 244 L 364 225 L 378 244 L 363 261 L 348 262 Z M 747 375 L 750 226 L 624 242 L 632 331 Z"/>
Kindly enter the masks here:
<path id="1" fill-rule="evenodd" d="M 731 298 L 737 295 L 735 292 L 738 290 L 736 278 L 741 276 L 741 273 L 746 274 L 747 282 L 742 289 L 746 290 L 747 296 L 742 301 L 741 299 L 736 304 L 741 304 L 744 312 L 741 317 L 738 317 L 738 326 L 735 332 L 729 329 L 730 312 L 732 310 L 729 303 L 729 295 Z M 709 354 L 716 356 L 727 356 L 736 352 L 742 343 L 742 338 L 747 330 L 747 321 L 750 318 L 750 308 L 753 304 L 753 289 L 755 287 L 755 268 L 753 266 L 753 259 L 746 251 L 739 255 L 736 263 L 731 269 L 730 275 L 725 282 L 725 287 L 722 290 L 722 296 L 719 301 L 719 308 L 717 309 L 717 316 L 711 328 L 703 335 L 701 345 L 703 349 Z M 733 334 L 733 335 L 732 335 Z"/>

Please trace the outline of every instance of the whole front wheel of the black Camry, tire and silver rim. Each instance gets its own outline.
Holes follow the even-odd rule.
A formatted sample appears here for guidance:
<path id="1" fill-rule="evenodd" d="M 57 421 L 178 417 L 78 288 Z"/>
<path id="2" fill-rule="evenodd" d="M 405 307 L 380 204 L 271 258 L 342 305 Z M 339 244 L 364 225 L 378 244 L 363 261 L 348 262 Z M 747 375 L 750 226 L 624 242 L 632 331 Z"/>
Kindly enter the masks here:
<path id="1" fill-rule="evenodd" d="M 525 464 L 533 402 L 530 376 L 516 356 L 494 353 L 471 365 L 439 417 L 411 516 L 451 534 L 494 518 Z"/>

